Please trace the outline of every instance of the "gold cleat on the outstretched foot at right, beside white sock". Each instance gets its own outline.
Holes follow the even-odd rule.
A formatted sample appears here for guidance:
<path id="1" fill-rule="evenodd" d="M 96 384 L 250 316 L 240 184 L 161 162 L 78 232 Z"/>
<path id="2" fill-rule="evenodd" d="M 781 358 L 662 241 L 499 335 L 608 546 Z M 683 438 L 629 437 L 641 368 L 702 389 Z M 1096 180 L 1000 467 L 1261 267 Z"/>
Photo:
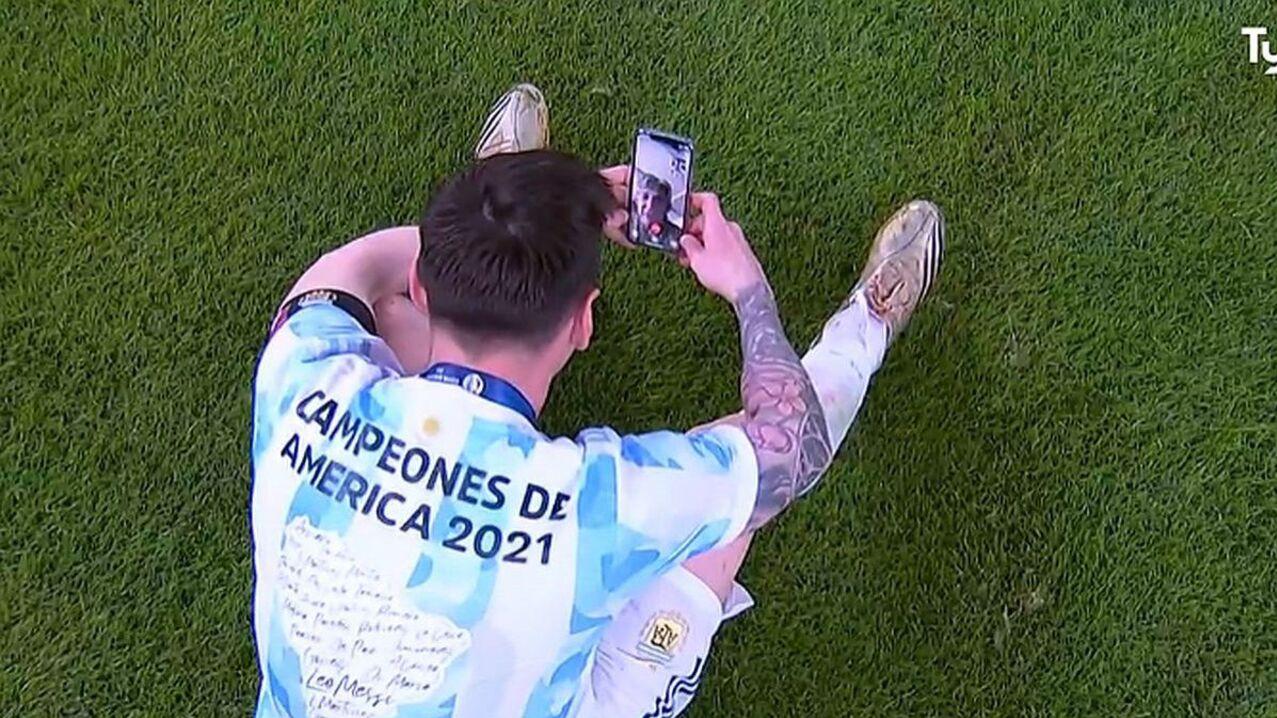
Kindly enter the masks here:
<path id="1" fill-rule="evenodd" d="M 909 202 L 879 230 L 852 296 L 865 291 L 870 312 L 888 326 L 888 341 L 904 328 L 927 295 L 944 253 L 945 217 L 926 199 Z"/>

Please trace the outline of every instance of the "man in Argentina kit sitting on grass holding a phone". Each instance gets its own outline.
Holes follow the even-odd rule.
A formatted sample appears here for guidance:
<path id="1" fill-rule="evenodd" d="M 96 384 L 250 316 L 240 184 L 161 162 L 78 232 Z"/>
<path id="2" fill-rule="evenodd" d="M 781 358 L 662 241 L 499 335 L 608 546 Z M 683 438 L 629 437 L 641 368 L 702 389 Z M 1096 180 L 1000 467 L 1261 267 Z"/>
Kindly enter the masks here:
<path id="1" fill-rule="evenodd" d="M 820 479 L 939 268 L 941 217 L 911 203 L 799 360 L 741 227 L 696 194 L 681 259 L 739 319 L 742 410 L 548 437 L 627 170 L 547 135 L 513 88 L 420 229 L 326 254 L 280 309 L 254 379 L 259 717 L 682 712 L 750 604 L 750 537 Z"/>

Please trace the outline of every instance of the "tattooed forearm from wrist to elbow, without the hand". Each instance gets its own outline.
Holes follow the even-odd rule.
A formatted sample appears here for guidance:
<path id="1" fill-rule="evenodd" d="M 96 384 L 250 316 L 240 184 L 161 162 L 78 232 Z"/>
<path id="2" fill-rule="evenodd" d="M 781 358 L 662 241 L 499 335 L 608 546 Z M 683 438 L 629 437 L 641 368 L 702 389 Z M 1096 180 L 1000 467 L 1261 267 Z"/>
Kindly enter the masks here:
<path id="1" fill-rule="evenodd" d="M 741 425 L 759 456 L 759 500 L 750 517 L 756 529 L 816 485 L 833 450 L 816 390 L 785 339 L 767 282 L 742 293 L 736 313 L 744 359 Z"/>

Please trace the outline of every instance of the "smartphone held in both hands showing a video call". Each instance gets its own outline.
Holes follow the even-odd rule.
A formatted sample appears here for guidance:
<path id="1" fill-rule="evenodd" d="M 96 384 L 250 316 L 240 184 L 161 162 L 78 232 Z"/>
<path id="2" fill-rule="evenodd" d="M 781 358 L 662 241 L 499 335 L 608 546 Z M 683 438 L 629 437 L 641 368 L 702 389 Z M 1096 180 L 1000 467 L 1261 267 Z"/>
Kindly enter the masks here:
<path id="1" fill-rule="evenodd" d="M 626 235 L 641 247 L 678 252 L 692 202 L 692 141 L 640 128 L 630 165 L 630 224 Z"/>

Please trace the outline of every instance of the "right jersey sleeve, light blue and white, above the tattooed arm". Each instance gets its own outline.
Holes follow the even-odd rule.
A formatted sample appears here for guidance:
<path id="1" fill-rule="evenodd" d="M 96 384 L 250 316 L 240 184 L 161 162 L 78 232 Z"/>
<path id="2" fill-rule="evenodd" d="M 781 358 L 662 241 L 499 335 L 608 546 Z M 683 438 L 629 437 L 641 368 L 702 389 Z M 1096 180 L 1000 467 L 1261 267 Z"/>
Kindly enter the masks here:
<path id="1" fill-rule="evenodd" d="M 637 436 L 587 429 L 577 441 L 585 448 L 581 540 L 603 547 L 591 558 L 609 593 L 645 585 L 744 531 L 759 468 L 738 427 Z"/>

